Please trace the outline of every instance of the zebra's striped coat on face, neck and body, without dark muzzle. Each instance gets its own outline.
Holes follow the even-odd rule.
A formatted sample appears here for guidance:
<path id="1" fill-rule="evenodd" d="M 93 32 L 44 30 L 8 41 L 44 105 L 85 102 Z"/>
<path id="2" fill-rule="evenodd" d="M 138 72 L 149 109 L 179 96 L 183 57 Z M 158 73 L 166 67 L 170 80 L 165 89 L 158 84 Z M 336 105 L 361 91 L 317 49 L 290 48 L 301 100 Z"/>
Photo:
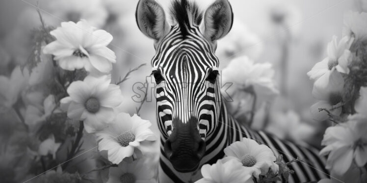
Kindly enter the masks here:
<path id="1" fill-rule="evenodd" d="M 219 81 L 207 80 L 219 66 L 214 55 L 215 44 L 209 43 L 199 31 L 200 14 L 189 9 L 186 15 L 188 20 L 184 23 L 176 20 L 178 23 L 157 43 L 156 55 L 152 59 L 153 72 L 163 78 L 156 87 L 157 123 L 161 132 L 159 182 L 188 183 L 201 178 L 200 169 L 192 173 L 177 172 L 164 155 L 164 142 L 174 128 L 172 120 L 178 118 L 186 123 L 191 117 L 198 119 L 197 128 L 206 143 L 206 154 L 199 167 L 223 158 L 224 148 L 247 137 L 268 145 L 277 157 L 282 154 L 285 161 L 297 157 L 302 160 L 291 164 L 290 168 L 295 173 L 289 178 L 290 183 L 328 177 L 323 173 L 327 172 L 325 160 L 317 156 L 318 151 L 314 148 L 301 147 L 265 132 L 246 129 L 227 113 Z"/>

